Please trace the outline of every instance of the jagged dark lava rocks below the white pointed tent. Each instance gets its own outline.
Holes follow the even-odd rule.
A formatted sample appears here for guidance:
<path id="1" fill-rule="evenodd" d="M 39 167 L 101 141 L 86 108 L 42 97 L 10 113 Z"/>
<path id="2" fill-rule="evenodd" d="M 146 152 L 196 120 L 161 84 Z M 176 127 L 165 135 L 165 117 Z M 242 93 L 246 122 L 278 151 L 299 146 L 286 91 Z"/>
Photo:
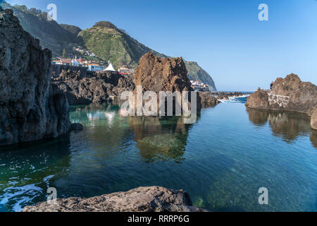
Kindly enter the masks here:
<path id="1" fill-rule="evenodd" d="M 58 85 L 68 96 L 70 105 L 87 105 L 115 100 L 125 90 L 133 90 L 132 76 L 103 71 L 92 76 L 83 75 L 80 69 L 62 70 L 52 84 Z"/>

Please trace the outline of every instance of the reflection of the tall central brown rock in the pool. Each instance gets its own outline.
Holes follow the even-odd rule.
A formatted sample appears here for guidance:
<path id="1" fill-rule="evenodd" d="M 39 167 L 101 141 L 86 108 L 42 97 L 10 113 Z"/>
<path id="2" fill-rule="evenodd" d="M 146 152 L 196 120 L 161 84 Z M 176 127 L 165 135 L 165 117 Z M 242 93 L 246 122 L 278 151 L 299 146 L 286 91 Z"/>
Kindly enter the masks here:
<path id="1" fill-rule="evenodd" d="M 145 160 L 182 160 L 190 127 L 182 117 L 130 117 L 129 124 Z"/>

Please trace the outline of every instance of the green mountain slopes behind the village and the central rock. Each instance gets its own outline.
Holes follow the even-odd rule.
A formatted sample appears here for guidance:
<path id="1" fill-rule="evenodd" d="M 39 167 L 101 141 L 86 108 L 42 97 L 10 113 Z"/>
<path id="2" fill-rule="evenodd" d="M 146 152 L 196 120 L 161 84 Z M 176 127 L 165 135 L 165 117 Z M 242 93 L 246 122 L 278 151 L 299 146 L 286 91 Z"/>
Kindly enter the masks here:
<path id="1" fill-rule="evenodd" d="M 1 6 L 12 8 L 23 29 L 39 39 L 42 47 L 51 49 L 54 57 L 61 56 L 63 49 L 66 50 L 67 57 L 75 57 L 75 55 L 80 57 L 81 53 L 75 51 L 74 47 L 82 47 L 96 54 L 99 60 L 110 60 L 115 68 L 128 65 L 134 69 L 137 68 L 139 58 L 147 52 L 151 51 L 158 57 L 168 57 L 137 42 L 125 30 L 116 28 L 108 21 L 101 21 L 92 28 L 81 30 L 74 25 L 49 21 L 47 13 L 36 8 L 11 6 L 6 2 Z M 198 80 L 208 84 L 212 90 L 216 90 L 211 76 L 196 62 L 185 61 L 185 63 L 190 80 Z"/>

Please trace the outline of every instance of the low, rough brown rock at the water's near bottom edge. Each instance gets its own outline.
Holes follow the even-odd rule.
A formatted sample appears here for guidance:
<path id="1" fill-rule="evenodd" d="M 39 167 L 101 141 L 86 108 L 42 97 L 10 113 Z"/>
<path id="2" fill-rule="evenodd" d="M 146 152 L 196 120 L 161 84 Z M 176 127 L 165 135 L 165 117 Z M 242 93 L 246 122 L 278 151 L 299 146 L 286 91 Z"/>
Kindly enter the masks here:
<path id="1" fill-rule="evenodd" d="M 56 204 L 37 203 L 23 212 L 201 212 L 192 206 L 186 191 L 160 186 L 139 187 L 92 198 L 57 199 Z"/>

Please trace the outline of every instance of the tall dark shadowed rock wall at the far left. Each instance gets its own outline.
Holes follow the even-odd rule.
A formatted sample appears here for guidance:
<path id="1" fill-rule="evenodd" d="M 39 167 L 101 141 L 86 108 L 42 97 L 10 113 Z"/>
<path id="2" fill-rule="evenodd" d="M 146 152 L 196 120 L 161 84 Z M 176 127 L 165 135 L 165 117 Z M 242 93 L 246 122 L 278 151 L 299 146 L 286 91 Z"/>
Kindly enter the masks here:
<path id="1" fill-rule="evenodd" d="M 51 51 L 0 11 L 0 145 L 55 138 L 70 129 L 67 97 L 51 81 Z"/>

